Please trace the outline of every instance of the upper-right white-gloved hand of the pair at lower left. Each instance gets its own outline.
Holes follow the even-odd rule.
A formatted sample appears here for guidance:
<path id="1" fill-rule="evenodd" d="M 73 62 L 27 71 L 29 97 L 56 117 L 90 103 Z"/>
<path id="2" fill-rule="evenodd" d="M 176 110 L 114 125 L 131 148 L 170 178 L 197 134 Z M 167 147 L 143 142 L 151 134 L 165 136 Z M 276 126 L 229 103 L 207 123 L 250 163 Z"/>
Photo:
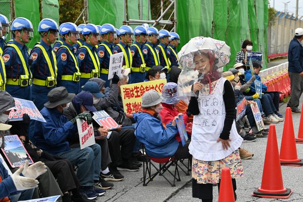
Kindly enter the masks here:
<path id="1" fill-rule="evenodd" d="M 29 166 L 29 161 L 26 160 L 23 168 L 24 169 L 22 171 L 22 174 L 25 177 L 34 178 L 34 179 L 47 171 L 46 166 L 44 165 L 44 163 L 42 163 L 40 161 L 34 163 L 31 166 Z"/>

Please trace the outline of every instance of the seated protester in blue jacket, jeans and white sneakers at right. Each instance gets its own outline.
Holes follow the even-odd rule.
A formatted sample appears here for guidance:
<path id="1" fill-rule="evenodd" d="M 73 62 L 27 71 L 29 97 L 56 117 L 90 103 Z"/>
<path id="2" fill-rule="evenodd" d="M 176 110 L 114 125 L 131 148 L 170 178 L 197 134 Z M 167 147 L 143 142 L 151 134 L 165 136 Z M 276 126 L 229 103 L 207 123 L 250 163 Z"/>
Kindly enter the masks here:
<path id="1" fill-rule="evenodd" d="M 261 77 L 258 74 L 259 74 L 262 66 L 258 63 L 253 63 L 253 67 L 254 67 L 254 74 L 255 74 L 256 80 L 261 81 Z M 246 70 L 245 71 L 245 81 L 247 82 L 248 80 L 250 80 L 251 77 L 252 77 L 252 74 L 251 74 L 250 69 Z M 266 91 L 267 91 L 267 86 L 262 84 L 262 93 L 264 93 Z M 246 93 L 246 95 L 254 95 L 255 93 L 256 93 L 255 84 L 252 83 L 250 85 L 250 91 L 248 93 Z M 267 117 L 269 118 L 269 122 L 278 123 L 278 122 L 284 121 L 283 118 L 279 117 L 281 115 L 278 113 L 279 103 L 274 104 L 272 97 L 270 95 L 270 94 L 274 95 L 275 93 L 273 93 L 273 92 L 268 92 L 268 93 L 269 94 L 267 94 L 267 93 L 262 94 L 262 98 L 260 100 L 262 103 L 262 108 L 263 108 L 265 114 L 267 115 Z M 276 96 L 274 96 L 274 97 L 276 97 Z M 274 100 L 276 100 L 276 99 L 274 98 Z M 278 98 L 278 100 L 279 100 L 279 98 Z M 277 102 L 279 102 L 279 101 L 277 101 Z"/>

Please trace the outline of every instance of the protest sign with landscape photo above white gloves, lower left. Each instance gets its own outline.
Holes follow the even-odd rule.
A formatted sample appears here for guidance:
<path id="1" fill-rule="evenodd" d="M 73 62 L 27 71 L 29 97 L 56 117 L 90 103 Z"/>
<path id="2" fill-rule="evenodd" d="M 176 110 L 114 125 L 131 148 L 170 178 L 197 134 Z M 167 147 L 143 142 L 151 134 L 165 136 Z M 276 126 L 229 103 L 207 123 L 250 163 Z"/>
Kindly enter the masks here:
<path id="1" fill-rule="evenodd" d="M 4 136 L 4 149 L 1 150 L 12 168 L 23 166 L 26 160 L 29 164 L 34 163 L 18 135 Z"/>

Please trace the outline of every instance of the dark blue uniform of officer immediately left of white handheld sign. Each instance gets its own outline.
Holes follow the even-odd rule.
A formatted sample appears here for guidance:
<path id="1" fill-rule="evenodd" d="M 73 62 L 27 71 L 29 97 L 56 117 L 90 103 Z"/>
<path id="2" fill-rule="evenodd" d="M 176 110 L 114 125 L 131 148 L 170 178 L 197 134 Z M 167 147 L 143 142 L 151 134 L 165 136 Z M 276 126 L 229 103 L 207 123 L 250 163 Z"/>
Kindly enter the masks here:
<path id="1" fill-rule="evenodd" d="M 108 47 L 108 49 L 107 49 Z M 110 51 L 110 52 L 108 52 Z M 113 45 L 103 40 L 101 45 L 97 49 L 98 58 L 100 61 L 100 78 L 105 81 L 105 88 L 109 87 L 110 80 L 108 80 L 108 67 L 109 67 L 109 58 L 113 54 Z"/>

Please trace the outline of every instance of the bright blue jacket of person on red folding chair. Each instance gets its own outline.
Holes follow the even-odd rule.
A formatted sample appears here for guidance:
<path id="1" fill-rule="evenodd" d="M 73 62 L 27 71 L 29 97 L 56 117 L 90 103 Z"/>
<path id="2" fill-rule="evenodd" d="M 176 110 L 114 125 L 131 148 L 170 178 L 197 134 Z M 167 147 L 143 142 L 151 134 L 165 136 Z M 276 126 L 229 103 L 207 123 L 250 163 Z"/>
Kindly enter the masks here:
<path id="1" fill-rule="evenodd" d="M 171 122 L 163 127 L 162 122 L 144 112 L 134 113 L 135 136 L 145 145 L 146 153 L 151 157 L 165 158 L 174 155 L 179 143 L 175 138 L 177 127 Z"/>

